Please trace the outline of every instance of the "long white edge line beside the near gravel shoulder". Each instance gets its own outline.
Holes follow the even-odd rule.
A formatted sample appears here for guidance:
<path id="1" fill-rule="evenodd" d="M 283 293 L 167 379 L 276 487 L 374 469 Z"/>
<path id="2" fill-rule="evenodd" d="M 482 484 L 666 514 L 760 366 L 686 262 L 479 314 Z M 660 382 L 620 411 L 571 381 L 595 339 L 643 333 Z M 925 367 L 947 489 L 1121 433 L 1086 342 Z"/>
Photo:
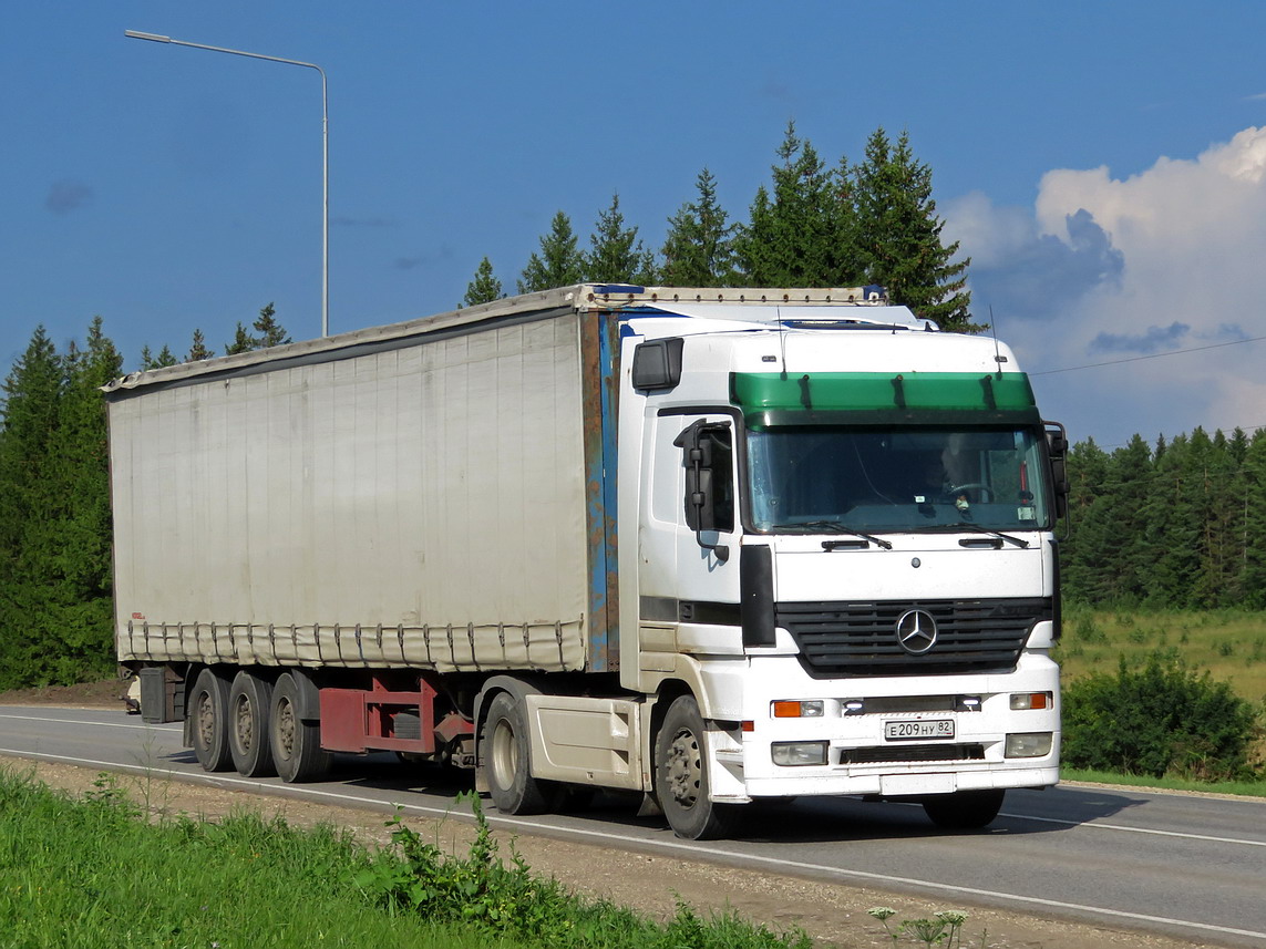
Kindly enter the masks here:
<path id="1" fill-rule="evenodd" d="M 87 764 L 92 767 L 100 767 L 106 771 L 141 772 L 143 774 L 153 773 L 156 771 L 156 768 L 153 767 L 143 767 L 137 764 L 116 764 L 114 762 L 99 762 L 89 758 L 71 758 L 68 755 L 60 755 L 60 754 L 19 752 L 11 748 L 0 748 L 0 754 L 11 754 L 19 758 L 38 758 L 41 760 L 49 760 L 49 762 L 63 762 L 67 764 Z M 390 805 L 392 807 L 399 807 L 400 810 L 411 814 L 424 814 L 424 815 L 436 815 L 442 817 L 457 817 L 458 820 L 471 820 L 471 817 L 454 811 L 452 807 L 428 807 L 425 805 L 417 805 L 417 803 L 386 802 L 373 797 L 361 797 L 358 795 L 337 793 L 333 791 L 319 791 L 316 788 L 301 788 L 294 785 L 287 785 L 285 788 L 281 788 L 277 787 L 276 785 L 266 785 L 257 781 L 248 781 L 244 778 L 219 777 L 216 774 L 199 774 L 196 772 L 166 771 L 162 773 L 177 781 L 189 781 L 192 783 L 213 785 L 213 786 L 241 786 L 242 788 L 249 788 L 257 793 L 265 793 L 265 795 L 276 795 L 285 797 L 329 798 L 333 801 L 354 801 L 357 803 L 372 805 L 375 809 L 382 807 L 384 805 Z M 592 840 L 601 840 L 604 843 L 613 843 L 617 844 L 618 847 L 627 847 L 630 840 L 630 838 L 622 834 L 609 834 L 601 830 L 585 830 L 582 828 L 560 828 L 557 825 L 541 824 L 538 821 L 524 820 L 522 817 L 505 817 L 501 815 L 490 815 L 487 820 L 492 825 L 503 824 L 508 826 L 546 831 L 547 834 L 552 835 L 566 834 L 570 836 L 589 838 Z M 1179 920 L 1170 916 L 1151 916 L 1148 914 L 1142 914 L 1142 912 L 1110 910 L 1105 906 L 1087 906 L 1085 903 L 1070 903 L 1060 900 L 1044 900 L 1037 896 L 1024 896 L 1023 893 L 1004 893 L 996 890 L 979 890 L 975 887 L 961 887 L 961 886 L 955 886 L 952 883 L 938 883 L 931 879 L 914 879 L 912 877 L 896 877 L 887 873 L 867 873 L 866 871 L 844 869 L 841 867 L 829 867 L 820 863 L 804 863 L 801 860 L 786 860 L 777 857 L 756 857 L 756 855 L 734 853 L 733 850 L 723 850 L 715 847 L 705 847 L 701 844 L 687 844 L 677 840 L 639 840 L 638 843 L 661 850 L 676 850 L 680 852 L 684 857 L 708 855 L 708 857 L 720 858 L 728 862 L 737 860 L 751 865 L 763 865 L 785 871 L 795 871 L 799 873 L 809 873 L 809 874 L 817 873 L 830 877 L 865 879 L 874 883 L 895 884 L 896 888 L 899 890 L 910 886 L 927 887 L 931 890 L 956 893 L 960 896 L 974 896 L 987 900 L 1013 901 L 1017 903 L 1027 903 L 1031 906 L 1041 906 L 1057 910 L 1074 910 L 1077 912 L 1084 912 L 1090 915 L 1110 916 L 1120 920 L 1133 920 L 1136 922 L 1180 926 L 1184 929 L 1196 929 L 1205 933 L 1222 933 L 1225 935 L 1250 936 L 1252 939 L 1266 940 L 1266 933 L 1257 933 L 1251 929 L 1217 926 L 1209 922 L 1194 922 L 1191 920 Z"/>

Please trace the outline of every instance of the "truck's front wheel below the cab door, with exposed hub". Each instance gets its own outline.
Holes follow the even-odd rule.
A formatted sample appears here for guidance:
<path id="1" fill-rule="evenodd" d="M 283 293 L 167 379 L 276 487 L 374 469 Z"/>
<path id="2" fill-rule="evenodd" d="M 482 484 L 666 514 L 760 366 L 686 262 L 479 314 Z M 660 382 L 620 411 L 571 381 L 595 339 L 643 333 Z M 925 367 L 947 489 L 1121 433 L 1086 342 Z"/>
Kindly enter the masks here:
<path id="1" fill-rule="evenodd" d="M 655 790 L 668 826 L 680 838 L 715 840 L 734 822 L 736 805 L 708 797 L 704 720 L 694 696 L 677 697 L 663 716 L 655 740 Z"/>

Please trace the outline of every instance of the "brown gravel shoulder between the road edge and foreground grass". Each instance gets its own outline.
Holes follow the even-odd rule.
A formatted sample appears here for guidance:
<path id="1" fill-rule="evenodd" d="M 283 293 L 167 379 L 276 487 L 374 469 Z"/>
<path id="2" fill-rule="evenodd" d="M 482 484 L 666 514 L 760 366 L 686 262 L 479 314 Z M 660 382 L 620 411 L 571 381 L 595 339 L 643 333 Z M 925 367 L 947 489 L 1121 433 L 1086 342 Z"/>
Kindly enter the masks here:
<path id="1" fill-rule="evenodd" d="M 66 764 L 35 763 L 0 757 L 0 766 L 30 773 L 44 783 L 82 795 L 94 788 L 99 772 Z M 219 819 L 232 812 L 280 815 L 298 826 L 319 822 L 346 828 L 367 845 L 389 843 L 381 814 L 266 795 L 224 791 L 173 779 L 134 776 L 113 778 L 154 814 L 187 814 Z M 463 852 L 471 840 L 470 825 L 457 820 L 409 817 L 424 839 L 449 852 Z M 891 945 L 881 924 L 866 910 L 891 906 L 895 921 L 929 917 L 937 910 L 965 909 L 965 945 L 989 949 L 1191 949 L 1204 943 L 1139 935 L 998 910 L 971 909 L 946 902 L 924 902 L 870 887 L 820 883 L 796 877 L 718 867 L 677 857 L 624 853 L 610 848 L 552 840 L 523 834 L 496 833 L 500 853 L 510 847 L 543 876 L 552 876 L 575 892 L 603 897 L 660 917 L 670 916 L 676 901 L 708 911 L 737 910 L 743 917 L 774 930 L 801 927 L 822 946 L 862 949 Z"/>

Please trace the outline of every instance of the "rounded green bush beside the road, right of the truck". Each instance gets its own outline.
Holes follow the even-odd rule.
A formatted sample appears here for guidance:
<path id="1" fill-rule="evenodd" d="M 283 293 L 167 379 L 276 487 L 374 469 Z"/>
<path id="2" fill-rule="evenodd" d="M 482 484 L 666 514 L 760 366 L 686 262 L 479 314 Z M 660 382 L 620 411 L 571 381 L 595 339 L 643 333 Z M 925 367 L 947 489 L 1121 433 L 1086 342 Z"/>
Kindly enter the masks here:
<path id="1" fill-rule="evenodd" d="M 1252 705 L 1189 669 L 1174 653 L 1141 668 L 1120 659 L 1063 691 L 1063 760 L 1075 768 L 1166 774 L 1201 781 L 1253 777 L 1248 750 L 1257 731 Z"/>

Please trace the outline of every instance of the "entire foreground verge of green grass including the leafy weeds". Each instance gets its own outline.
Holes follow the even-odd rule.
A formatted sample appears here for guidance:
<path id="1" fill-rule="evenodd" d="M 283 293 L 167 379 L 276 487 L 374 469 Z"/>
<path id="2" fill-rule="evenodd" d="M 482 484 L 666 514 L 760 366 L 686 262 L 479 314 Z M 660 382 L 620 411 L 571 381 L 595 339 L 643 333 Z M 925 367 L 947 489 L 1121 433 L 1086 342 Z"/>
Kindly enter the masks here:
<path id="1" fill-rule="evenodd" d="M 809 949 L 736 914 L 667 922 L 586 900 L 496 855 L 477 820 L 448 855 L 395 822 L 395 847 L 242 814 L 144 819 L 103 776 L 82 798 L 0 768 L 0 945 Z"/>

